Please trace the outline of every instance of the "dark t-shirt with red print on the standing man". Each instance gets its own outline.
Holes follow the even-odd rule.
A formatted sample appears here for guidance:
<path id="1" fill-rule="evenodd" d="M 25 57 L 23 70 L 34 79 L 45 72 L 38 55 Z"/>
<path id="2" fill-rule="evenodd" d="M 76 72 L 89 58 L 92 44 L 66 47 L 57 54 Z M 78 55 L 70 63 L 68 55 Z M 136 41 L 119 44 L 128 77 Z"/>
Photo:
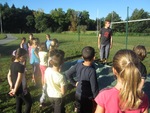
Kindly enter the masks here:
<path id="1" fill-rule="evenodd" d="M 101 34 L 101 44 L 103 45 L 107 45 L 110 44 L 110 39 L 112 36 L 112 30 L 110 28 L 102 28 L 100 30 L 100 34 Z"/>

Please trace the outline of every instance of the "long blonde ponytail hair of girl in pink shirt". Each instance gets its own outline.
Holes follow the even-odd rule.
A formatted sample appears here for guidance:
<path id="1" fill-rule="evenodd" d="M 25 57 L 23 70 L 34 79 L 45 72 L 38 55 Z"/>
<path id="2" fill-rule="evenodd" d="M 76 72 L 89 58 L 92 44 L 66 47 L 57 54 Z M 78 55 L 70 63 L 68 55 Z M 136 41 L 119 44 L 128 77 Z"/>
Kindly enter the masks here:
<path id="1" fill-rule="evenodd" d="M 113 58 L 113 67 L 122 81 L 119 106 L 122 110 L 137 109 L 141 104 L 142 91 L 138 90 L 141 73 L 140 62 L 132 50 L 120 50 Z"/>

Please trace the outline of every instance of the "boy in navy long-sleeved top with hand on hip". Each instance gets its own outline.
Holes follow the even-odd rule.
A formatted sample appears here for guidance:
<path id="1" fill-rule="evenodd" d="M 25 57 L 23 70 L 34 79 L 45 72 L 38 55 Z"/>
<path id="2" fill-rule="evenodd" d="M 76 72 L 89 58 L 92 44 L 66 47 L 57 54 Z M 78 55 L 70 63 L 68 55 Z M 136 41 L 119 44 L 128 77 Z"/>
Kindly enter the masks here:
<path id="1" fill-rule="evenodd" d="M 73 86 L 76 86 L 75 112 L 92 113 L 93 99 L 98 94 L 96 71 L 92 66 L 95 59 L 94 48 L 87 46 L 82 50 L 83 62 L 77 63 L 66 72 L 66 76 Z M 73 79 L 76 73 L 77 82 Z"/>

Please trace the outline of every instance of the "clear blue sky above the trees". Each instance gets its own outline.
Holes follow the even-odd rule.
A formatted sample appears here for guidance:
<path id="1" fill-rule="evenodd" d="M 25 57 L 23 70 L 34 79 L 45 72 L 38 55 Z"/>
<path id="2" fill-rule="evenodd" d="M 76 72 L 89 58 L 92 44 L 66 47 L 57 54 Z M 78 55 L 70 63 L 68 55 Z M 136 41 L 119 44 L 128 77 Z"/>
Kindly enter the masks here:
<path id="1" fill-rule="evenodd" d="M 76 11 L 88 11 L 90 19 L 106 17 L 109 13 L 115 11 L 122 20 L 127 17 L 127 7 L 129 7 L 129 16 L 137 9 L 144 9 L 150 13 L 150 0 L 0 0 L 0 3 L 12 4 L 16 8 L 28 6 L 31 10 L 42 9 L 49 14 L 55 8 L 62 8 L 67 12 L 68 9 Z"/>

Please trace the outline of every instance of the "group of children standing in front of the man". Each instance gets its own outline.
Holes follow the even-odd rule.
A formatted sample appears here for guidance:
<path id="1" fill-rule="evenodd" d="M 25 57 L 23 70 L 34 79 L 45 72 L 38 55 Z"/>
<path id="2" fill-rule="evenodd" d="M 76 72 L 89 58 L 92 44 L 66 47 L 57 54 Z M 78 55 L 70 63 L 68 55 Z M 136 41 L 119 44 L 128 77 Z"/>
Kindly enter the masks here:
<path id="1" fill-rule="evenodd" d="M 65 53 L 57 49 L 56 39 L 50 40 L 49 35 L 46 35 L 46 38 L 47 41 L 39 45 L 38 40 L 32 37 L 28 45 L 30 63 L 34 69 L 33 82 L 36 83 L 35 74 L 38 66 L 42 75 L 43 94 L 40 98 L 40 107 L 43 105 L 46 92 L 54 107 L 54 113 L 62 112 L 66 77 L 76 87 L 75 112 L 77 113 L 148 113 L 148 97 L 142 91 L 147 75 L 142 63 L 146 57 L 144 46 L 136 46 L 133 50 L 119 50 L 114 55 L 112 70 L 117 83 L 113 88 L 106 88 L 99 92 L 96 71 L 92 65 L 95 60 L 94 48 L 84 47 L 82 49 L 83 62 L 67 70 L 64 77 L 61 74 L 61 66 L 63 66 Z M 25 73 L 23 62 L 26 60 L 27 52 L 22 49 L 23 43 L 20 47 L 16 50 L 15 60 L 8 73 L 9 94 L 16 95 L 17 113 L 21 112 L 22 100 L 26 103 L 26 113 L 29 113 L 32 99 L 30 93 L 24 90 L 22 79 Z"/>

